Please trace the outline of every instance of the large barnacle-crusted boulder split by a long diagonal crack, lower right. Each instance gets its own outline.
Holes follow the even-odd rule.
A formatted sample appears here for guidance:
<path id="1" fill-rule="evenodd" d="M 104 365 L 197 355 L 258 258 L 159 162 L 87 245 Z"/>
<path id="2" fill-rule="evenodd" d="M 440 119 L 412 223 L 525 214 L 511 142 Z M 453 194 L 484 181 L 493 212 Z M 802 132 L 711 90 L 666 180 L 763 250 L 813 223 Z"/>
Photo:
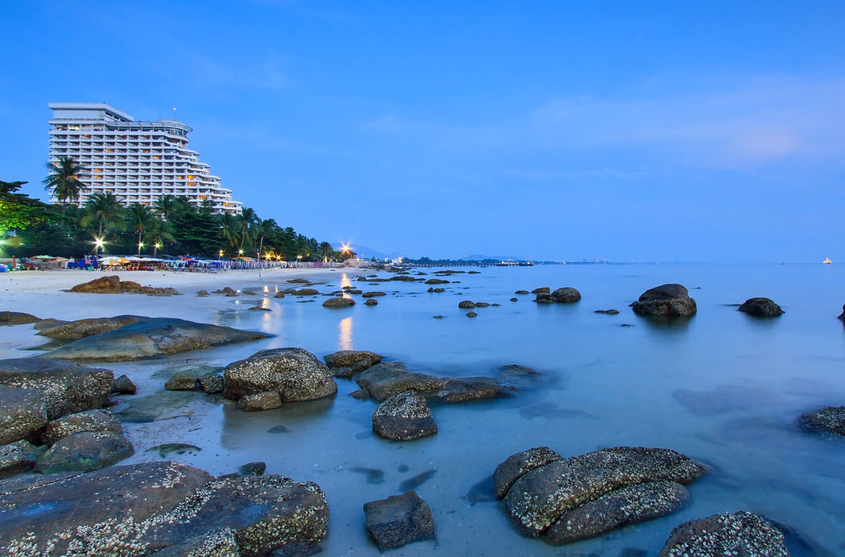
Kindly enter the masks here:
<path id="1" fill-rule="evenodd" d="M 645 447 L 613 447 L 563 460 L 540 447 L 511 456 L 497 471 L 499 494 L 510 483 L 504 503 L 521 532 L 545 533 L 554 543 L 677 510 L 687 499 L 679 484 L 706 473 L 675 451 Z"/>

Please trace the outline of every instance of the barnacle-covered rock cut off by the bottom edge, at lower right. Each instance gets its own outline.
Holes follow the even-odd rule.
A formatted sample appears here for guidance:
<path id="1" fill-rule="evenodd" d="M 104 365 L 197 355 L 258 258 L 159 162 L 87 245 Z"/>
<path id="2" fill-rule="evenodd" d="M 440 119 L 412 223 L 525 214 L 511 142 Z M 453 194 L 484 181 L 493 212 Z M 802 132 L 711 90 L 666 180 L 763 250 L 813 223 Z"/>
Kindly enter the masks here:
<path id="1" fill-rule="evenodd" d="M 659 557 L 788 557 L 783 533 L 771 522 L 739 511 L 684 522 L 669 534 Z"/>

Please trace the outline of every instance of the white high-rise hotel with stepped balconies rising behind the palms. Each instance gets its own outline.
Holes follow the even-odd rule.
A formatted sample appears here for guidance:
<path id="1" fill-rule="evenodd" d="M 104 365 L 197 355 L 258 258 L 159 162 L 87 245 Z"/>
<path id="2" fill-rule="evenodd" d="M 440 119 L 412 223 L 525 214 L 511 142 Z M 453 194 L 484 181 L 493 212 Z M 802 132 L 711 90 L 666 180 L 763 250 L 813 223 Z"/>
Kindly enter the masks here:
<path id="1" fill-rule="evenodd" d="M 50 161 L 72 156 L 85 168 L 82 182 L 90 194 L 106 191 L 124 205 L 152 205 L 164 194 L 187 197 L 196 204 L 209 200 L 215 213 L 238 213 L 243 205 L 232 190 L 188 149 L 187 124 L 174 120 L 136 122 L 106 104 L 51 102 Z M 56 201 L 56 199 L 52 199 Z"/>

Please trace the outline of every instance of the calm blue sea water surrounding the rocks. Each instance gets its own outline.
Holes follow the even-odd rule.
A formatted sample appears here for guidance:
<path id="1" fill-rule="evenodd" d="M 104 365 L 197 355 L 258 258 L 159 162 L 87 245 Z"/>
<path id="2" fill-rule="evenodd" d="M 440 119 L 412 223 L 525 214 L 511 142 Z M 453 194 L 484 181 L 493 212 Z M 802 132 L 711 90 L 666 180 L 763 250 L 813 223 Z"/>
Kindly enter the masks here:
<path id="1" fill-rule="evenodd" d="M 493 374 L 503 364 L 521 363 L 546 374 L 548 385 L 506 400 L 433 407 L 439 433 L 409 443 L 370 433 L 376 405 L 347 396 L 357 389 L 353 381 L 338 380 L 331 400 L 270 412 L 245 413 L 194 395 L 172 412 L 189 418 L 128 425 L 137 451 L 130 461 L 156 458 L 146 445 L 182 442 L 203 450 L 174 458 L 214 473 L 265 461 L 270 473 L 319 483 L 331 509 L 321 544 L 327 555 L 375 554 L 363 504 L 401 493 L 403 481 L 429 470 L 436 472 L 417 493 L 432 508 L 438 539 L 390 554 L 657 554 L 679 523 L 738 510 L 794 527 L 820 554 L 845 552 L 845 440 L 804 434 L 793 425 L 801 412 L 845 404 L 845 330 L 836 319 L 845 303 L 845 268 L 548 265 L 481 271 L 452 277 L 460 283 L 444 285 L 443 293 L 425 292 L 422 284 L 352 281 L 389 292 L 374 308 L 359 303 L 329 310 L 319 305 L 324 298 L 268 298 L 264 303 L 273 311 L 265 314 L 244 311 L 242 298 L 199 298 L 188 319 L 276 336 L 110 367 L 136 380 L 141 396 L 161 390 L 161 378 L 186 359 L 225 365 L 265 347 L 303 347 L 318 357 L 354 348 L 451 376 Z M 325 292 L 352 276 L 338 271 L 333 278 L 331 287 L 321 287 Z M 641 292 L 666 282 L 690 289 L 698 304 L 694 318 L 659 324 L 631 312 L 628 304 Z M 273 292 L 276 285 L 261 286 Z M 570 305 L 539 305 L 533 296 L 509 301 L 515 290 L 535 287 L 576 287 L 583 298 Z M 755 319 L 730 305 L 755 296 L 772 298 L 787 313 Z M 501 305 L 477 309 L 478 317 L 468 319 L 457 308 L 465 298 Z M 150 311 L 157 307 L 166 313 L 164 305 Z M 593 313 L 612 308 L 620 314 Z M 444 319 L 433 319 L 438 314 Z M 269 431 L 274 428 L 284 431 Z M 668 447 L 713 472 L 690 485 L 693 500 L 679 513 L 554 547 L 522 537 L 498 503 L 468 496 L 507 456 L 538 445 L 564 456 L 613 445 Z"/>

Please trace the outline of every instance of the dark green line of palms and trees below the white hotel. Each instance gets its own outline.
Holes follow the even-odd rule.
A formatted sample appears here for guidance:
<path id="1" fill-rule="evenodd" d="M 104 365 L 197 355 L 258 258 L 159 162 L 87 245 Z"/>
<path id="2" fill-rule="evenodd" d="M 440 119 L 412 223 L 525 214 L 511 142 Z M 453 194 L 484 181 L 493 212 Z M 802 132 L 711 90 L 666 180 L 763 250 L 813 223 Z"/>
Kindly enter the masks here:
<path id="1" fill-rule="evenodd" d="M 6 256 L 56 254 L 191 254 L 314 261 L 345 259 L 328 242 L 319 242 L 262 219 L 243 207 L 237 215 L 215 214 L 210 200 L 164 194 L 152 206 L 123 205 L 109 191 L 79 204 L 85 169 L 73 157 L 46 164 L 45 189 L 57 199 L 46 204 L 20 194 L 25 182 L 0 181 L 0 252 Z"/>

